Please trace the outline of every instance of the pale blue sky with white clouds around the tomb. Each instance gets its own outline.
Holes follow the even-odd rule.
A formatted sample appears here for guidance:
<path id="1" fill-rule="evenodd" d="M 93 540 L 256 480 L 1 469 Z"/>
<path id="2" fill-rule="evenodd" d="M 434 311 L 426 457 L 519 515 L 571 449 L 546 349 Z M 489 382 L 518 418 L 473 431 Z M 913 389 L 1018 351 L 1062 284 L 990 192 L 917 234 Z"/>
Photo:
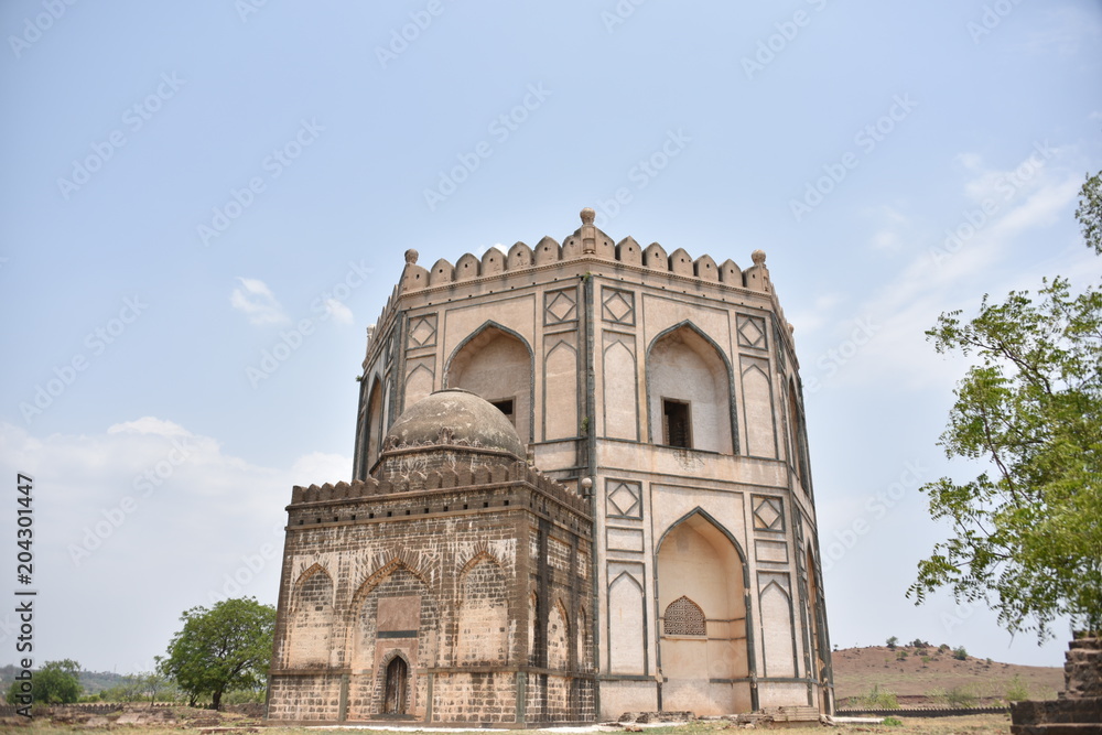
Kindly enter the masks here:
<path id="1" fill-rule="evenodd" d="M 402 253 L 561 241 L 592 206 L 614 240 L 767 251 L 834 642 L 1062 663 L 1063 628 L 904 592 L 946 533 L 917 486 L 974 469 L 936 446 L 965 365 L 922 332 L 1102 272 L 1073 218 L 1098 2 L 381 4 L 0 8 L 0 466 L 35 478 L 41 660 L 149 668 L 184 609 L 274 603 L 291 485 L 350 475 Z"/>

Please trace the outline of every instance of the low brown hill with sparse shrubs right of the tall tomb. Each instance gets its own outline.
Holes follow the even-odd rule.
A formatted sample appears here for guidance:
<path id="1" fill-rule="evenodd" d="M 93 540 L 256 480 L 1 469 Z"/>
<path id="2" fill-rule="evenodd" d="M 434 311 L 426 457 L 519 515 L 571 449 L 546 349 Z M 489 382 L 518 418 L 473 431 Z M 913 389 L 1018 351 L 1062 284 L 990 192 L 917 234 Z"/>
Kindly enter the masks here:
<path id="1" fill-rule="evenodd" d="M 833 652 L 834 693 L 840 707 L 869 704 L 874 687 L 894 693 L 901 706 L 1001 704 L 1006 699 L 1056 699 L 1063 669 L 998 663 L 971 656 L 958 660 L 948 647 L 869 646 Z"/>

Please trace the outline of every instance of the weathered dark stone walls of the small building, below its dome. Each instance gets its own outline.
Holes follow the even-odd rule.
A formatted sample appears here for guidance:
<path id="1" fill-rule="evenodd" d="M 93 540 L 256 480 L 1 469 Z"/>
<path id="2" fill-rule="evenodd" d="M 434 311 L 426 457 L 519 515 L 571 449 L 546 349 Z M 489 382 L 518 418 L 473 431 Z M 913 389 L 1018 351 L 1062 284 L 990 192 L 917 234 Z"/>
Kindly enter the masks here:
<path id="1" fill-rule="evenodd" d="M 465 392 L 425 402 L 456 400 L 505 423 Z M 434 439 L 396 437 L 381 482 L 294 488 L 270 718 L 594 717 L 586 504 L 528 467 L 519 441 Z"/>

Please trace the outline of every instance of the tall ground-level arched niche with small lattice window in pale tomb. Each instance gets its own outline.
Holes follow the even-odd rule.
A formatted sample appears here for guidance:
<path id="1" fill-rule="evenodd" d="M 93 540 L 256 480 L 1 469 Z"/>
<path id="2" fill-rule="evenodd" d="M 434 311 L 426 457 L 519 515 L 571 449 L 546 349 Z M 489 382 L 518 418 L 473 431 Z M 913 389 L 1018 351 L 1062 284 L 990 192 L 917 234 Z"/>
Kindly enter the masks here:
<path id="1" fill-rule="evenodd" d="M 658 615 L 665 710 L 753 709 L 745 570 L 730 534 L 699 509 L 662 537 Z"/>

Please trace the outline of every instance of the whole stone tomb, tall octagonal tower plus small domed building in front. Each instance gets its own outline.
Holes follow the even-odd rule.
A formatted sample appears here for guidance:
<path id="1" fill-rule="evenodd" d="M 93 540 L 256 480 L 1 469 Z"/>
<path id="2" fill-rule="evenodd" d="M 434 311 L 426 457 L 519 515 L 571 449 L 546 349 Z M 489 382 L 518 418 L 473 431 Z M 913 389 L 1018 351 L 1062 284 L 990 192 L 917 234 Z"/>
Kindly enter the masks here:
<path id="1" fill-rule="evenodd" d="M 833 711 L 765 253 L 614 244 L 583 209 L 562 245 L 417 261 L 368 331 L 353 482 L 288 507 L 269 716 Z"/>

